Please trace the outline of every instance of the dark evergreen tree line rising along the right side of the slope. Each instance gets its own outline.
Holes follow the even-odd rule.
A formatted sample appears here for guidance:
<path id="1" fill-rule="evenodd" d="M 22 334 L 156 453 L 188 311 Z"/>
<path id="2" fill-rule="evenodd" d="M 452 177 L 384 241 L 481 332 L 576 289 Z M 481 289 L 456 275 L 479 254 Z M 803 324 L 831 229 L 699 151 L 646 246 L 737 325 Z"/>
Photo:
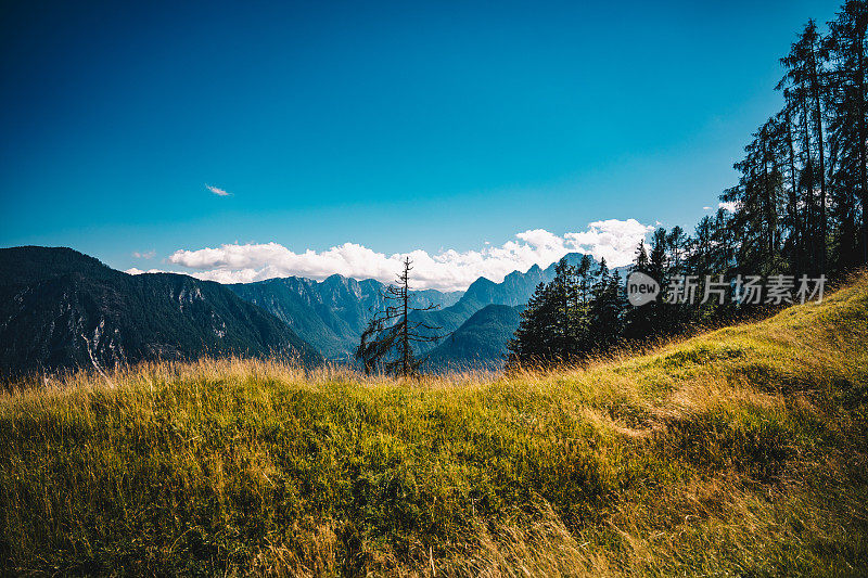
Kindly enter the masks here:
<path id="1" fill-rule="evenodd" d="M 665 288 L 681 275 L 834 280 L 868 264 L 867 23 L 865 0 L 846 1 L 825 34 L 808 21 L 781 59 L 784 75 L 776 90 L 782 108 L 752 134 L 735 165 L 739 180 L 720 195 L 720 208 L 692 235 L 680 227 L 654 231 L 650 246 L 639 244 L 633 270 Z M 729 296 L 702 303 L 703 288 L 699 293 L 693 303 L 658 299 L 633 307 L 621 275 L 604 260 L 599 267 L 589 257 L 574 265 L 562 260 L 523 311 L 510 360 L 570 362 L 769 307 Z"/>

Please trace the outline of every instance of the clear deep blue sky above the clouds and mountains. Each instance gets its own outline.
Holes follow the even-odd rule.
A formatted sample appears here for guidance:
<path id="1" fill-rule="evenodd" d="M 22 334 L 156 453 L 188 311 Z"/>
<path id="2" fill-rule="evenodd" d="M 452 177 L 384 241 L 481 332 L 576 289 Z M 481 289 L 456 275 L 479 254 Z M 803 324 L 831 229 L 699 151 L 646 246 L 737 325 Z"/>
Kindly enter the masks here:
<path id="1" fill-rule="evenodd" d="M 0 245 L 692 226 L 835 1 L 3 2 Z M 82 5 L 84 4 L 84 5 Z M 209 193 L 205 184 L 231 196 Z"/>

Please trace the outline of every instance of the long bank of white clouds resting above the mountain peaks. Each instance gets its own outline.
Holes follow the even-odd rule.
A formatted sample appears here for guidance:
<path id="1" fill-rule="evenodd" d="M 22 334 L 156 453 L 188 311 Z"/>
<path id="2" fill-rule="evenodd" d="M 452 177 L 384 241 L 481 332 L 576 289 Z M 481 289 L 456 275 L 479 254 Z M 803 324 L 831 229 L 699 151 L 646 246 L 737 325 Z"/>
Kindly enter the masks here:
<path id="1" fill-rule="evenodd" d="M 558 236 L 545 229 L 524 231 L 501 246 L 478 251 L 442 249 L 437 254 L 417 249 L 406 254 L 413 260 L 414 288 L 464 290 L 480 277 L 500 282 L 512 271 L 533 265 L 547 267 L 572 252 L 605 257 L 611 267 L 631 261 L 639 240 L 653 230 L 635 219 L 595 221 L 580 233 Z M 322 280 L 340 273 L 355 279 L 392 282 L 405 255 L 376 253 L 356 243 L 328 251 L 295 253 L 278 243 L 226 244 L 216 248 L 176 251 L 169 262 L 193 270 L 195 278 L 221 283 L 250 283 L 276 277 L 299 275 Z"/>

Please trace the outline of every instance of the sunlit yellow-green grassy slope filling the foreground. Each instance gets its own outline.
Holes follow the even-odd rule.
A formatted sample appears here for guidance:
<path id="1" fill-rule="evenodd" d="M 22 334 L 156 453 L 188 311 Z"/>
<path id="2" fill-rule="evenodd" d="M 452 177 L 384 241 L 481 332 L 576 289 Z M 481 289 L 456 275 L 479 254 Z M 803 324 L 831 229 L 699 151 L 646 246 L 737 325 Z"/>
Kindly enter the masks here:
<path id="1" fill-rule="evenodd" d="M 868 275 L 585 370 L 113 380 L 0 399 L 8 570 L 868 573 Z"/>

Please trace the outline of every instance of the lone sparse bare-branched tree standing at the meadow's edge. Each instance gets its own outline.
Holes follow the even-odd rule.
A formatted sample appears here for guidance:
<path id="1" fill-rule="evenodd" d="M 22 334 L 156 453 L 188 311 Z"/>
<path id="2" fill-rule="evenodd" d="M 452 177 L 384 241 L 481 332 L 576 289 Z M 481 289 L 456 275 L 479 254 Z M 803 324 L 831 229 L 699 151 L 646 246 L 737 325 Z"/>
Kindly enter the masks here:
<path id="1" fill-rule="evenodd" d="M 438 307 L 434 304 L 426 307 L 410 305 L 411 265 L 410 258 L 405 258 L 397 284 L 388 285 L 383 292 L 385 309 L 374 313 L 361 334 L 356 359 L 361 361 L 365 373 L 382 369 L 393 375 L 414 375 L 424 358 L 416 356 L 413 344 L 433 343 L 442 337 L 436 333 L 442 327 L 410 319 L 414 311 L 431 311 Z"/>

